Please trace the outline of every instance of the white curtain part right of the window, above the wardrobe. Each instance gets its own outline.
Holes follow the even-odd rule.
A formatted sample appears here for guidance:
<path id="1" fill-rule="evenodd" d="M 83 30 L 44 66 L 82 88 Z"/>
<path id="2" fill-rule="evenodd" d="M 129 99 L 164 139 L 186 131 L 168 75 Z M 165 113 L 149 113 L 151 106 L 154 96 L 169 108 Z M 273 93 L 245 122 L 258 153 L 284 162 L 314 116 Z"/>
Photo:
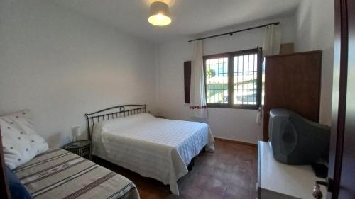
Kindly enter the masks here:
<path id="1" fill-rule="evenodd" d="M 280 25 L 266 26 L 263 39 L 263 57 L 268 55 L 278 55 L 280 53 L 280 45 Z"/>

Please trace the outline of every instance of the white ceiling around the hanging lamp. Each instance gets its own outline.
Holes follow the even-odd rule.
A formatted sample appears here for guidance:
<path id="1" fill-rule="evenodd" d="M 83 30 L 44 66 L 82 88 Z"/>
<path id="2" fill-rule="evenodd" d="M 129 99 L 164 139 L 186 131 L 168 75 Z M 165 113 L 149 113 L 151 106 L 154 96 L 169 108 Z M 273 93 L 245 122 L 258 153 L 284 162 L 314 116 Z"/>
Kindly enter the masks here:
<path id="1" fill-rule="evenodd" d="M 197 35 L 247 21 L 293 13 L 300 0 L 165 0 L 172 23 L 148 23 L 154 0 L 60 0 L 62 6 L 151 42 Z"/>

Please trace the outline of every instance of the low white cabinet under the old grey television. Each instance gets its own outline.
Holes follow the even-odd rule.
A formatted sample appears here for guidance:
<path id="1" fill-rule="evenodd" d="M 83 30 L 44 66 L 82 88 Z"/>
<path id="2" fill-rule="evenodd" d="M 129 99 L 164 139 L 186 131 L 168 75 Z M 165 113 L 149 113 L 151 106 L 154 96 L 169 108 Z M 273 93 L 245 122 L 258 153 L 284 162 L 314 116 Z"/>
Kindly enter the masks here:
<path id="1" fill-rule="evenodd" d="M 294 166 L 280 163 L 273 157 L 268 142 L 258 141 L 258 191 L 259 199 L 305 198 L 312 199 L 315 176 L 310 165 Z M 327 193 L 321 186 L 322 193 Z"/>

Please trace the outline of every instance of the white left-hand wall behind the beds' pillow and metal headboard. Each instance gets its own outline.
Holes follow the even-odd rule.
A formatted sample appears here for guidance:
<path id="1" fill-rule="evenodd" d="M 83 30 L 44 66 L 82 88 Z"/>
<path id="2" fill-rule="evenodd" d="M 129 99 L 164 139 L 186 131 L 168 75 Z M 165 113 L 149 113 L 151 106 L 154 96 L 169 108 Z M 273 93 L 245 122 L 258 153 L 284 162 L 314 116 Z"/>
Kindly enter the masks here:
<path id="1" fill-rule="evenodd" d="M 52 146 L 84 113 L 155 108 L 153 45 L 48 1 L 0 2 L 0 115 L 28 108 Z"/>

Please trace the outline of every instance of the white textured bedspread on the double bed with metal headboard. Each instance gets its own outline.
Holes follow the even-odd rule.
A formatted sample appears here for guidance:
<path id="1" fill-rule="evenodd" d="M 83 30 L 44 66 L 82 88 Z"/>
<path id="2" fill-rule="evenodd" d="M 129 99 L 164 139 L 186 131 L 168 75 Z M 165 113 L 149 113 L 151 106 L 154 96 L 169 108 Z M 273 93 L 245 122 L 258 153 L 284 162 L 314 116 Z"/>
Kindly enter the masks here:
<path id="1" fill-rule="evenodd" d="M 92 154 L 170 185 L 179 195 L 177 181 L 206 145 L 214 151 L 209 125 L 155 118 L 148 113 L 107 120 L 94 125 Z"/>

